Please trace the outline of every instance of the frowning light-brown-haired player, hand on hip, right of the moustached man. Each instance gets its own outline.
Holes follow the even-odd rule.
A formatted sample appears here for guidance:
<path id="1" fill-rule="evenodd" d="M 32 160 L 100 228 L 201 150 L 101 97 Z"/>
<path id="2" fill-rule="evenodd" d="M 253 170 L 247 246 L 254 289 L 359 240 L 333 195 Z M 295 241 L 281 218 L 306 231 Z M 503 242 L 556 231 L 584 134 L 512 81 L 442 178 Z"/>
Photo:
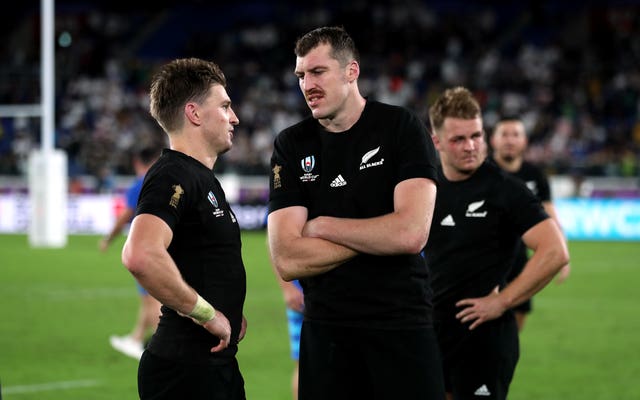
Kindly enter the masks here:
<path id="1" fill-rule="evenodd" d="M 553 279 L 568 250 L 533 193 L 486 161 L 482 114 L 469 90 L 445 90 L 429 120 L 441 167 L 424 255 L 447 398 L 504 400 L 520 354 L 512 308 Z M 520 238 L 534 253 L 507 284 Z"/>

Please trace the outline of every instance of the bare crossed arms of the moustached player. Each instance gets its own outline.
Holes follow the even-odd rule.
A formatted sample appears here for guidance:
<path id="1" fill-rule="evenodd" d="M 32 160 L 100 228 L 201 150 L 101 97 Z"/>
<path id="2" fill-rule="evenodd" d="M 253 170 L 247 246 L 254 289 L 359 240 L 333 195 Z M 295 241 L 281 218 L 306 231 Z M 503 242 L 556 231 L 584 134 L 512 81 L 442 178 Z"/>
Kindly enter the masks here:
<path id="1" fill-rule="evenodd" d="M 396 185 L 394 210 L 378 217 L 307 220 L 302 206 L 276 210 L 267 222 L 271 262 L 290 281 L 330 271 L 360 253 L 417 254 L 429 237 L 435 198 L 433 181 L 412 178 Z"/>

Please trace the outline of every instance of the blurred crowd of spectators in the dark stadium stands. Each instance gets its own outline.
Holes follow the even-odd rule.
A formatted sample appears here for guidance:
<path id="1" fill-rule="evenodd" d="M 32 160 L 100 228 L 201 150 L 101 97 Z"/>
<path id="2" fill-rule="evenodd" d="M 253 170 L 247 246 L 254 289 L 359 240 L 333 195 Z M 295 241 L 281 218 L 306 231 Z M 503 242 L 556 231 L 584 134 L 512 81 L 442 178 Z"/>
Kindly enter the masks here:
<path id="1" fill-rule="evenodd" d="M 56 2 L 56 147 L 71 176 L 132 174 L 139 145 L 163 145 L 148 115 L 160 63 L 197 56 L 221 65 L 239 116 L 221 172 L 267 174 L 272 141 L 307 115 L 293 44 L 320 25 L 343 25 L 359 46 L 361 91 L 427 121 L 443 88 L 465 85 L 485 126 L 519 114 L 527 158 L 551 174 L 636 176 L 640 155 L 640 6 L 633 2 L 160 1 Z M 173 5 L 170 5 L 173 4 Z M 39 10 L 6 23 L 0 104 L 39 101 Z M 25 173 L 40 140 L 34 117 L 2 118 L 0 175 Z"/>

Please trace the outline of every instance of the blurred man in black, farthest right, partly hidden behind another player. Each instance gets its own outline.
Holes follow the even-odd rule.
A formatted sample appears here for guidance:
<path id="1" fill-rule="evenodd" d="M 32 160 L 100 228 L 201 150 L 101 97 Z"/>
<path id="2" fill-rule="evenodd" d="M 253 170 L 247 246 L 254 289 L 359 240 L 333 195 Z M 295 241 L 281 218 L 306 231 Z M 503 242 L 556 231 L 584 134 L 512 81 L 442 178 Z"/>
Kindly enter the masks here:
<path id="1" fill-rule="evenodd" d="M 551 187 L 545 173 L 524 159 L 527 150 L 527 134 L 524 123 L 516 116 L 505 116 L 495 125 L 491 134 L 493 160 L 500 168 L 523 181 L 529 190 L 542 202 L 542 207 L 560 227 L 560 220 L 551 200 Z M 527 247 L 520 241 L 507 281 L 511 282 L 527 263 Z M 562 267 L 556 282 L 562 283 L 570 274 L 569 264 Z M 514 308 L 518 330 L 522 331 L 527 316 L 531 313 L 533 299 L 528 299 Z"/>

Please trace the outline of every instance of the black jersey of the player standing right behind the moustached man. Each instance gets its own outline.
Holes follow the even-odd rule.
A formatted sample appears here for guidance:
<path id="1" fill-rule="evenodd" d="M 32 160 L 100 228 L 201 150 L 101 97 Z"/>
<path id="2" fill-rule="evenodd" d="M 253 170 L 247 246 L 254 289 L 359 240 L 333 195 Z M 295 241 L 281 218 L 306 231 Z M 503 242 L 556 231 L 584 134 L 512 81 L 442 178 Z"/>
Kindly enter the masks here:
<path id="1" fill-rule="evenodd" d="M 548 218 L 538 199 L 517 179 L 485 162 L 468 179 L 440 185 L 427 265 L 433 273 L 435 315 L 454 318 L 455 303 L 503 287 L 521 236 Z"/>

